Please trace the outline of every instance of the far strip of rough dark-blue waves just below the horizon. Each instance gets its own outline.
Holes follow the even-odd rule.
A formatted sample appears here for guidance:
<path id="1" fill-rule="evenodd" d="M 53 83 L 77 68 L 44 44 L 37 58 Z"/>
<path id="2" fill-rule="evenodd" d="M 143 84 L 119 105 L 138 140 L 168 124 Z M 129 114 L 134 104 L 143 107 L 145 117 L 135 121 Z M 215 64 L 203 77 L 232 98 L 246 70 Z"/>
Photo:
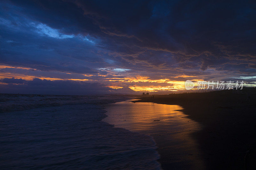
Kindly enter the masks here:
<path id="1" fill-rule="evenodd" d="M 21 111 L 39 107 L 76 104 L 108 104 L 124 99 L 122 96 L 72 96 L 37 94 L 0 94 L 0 113 Z"/>

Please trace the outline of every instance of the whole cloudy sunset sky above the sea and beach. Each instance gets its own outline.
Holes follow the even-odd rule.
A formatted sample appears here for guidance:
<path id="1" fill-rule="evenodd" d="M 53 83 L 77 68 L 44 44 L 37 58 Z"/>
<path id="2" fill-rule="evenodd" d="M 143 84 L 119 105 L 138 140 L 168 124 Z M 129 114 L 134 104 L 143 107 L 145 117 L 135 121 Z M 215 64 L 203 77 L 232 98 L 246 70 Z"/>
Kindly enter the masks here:
<path id="1" fill-rule="evenodd" d="M 0 2 L 0 93 L 169 94 L 256 83 L 253 1 Z"/>

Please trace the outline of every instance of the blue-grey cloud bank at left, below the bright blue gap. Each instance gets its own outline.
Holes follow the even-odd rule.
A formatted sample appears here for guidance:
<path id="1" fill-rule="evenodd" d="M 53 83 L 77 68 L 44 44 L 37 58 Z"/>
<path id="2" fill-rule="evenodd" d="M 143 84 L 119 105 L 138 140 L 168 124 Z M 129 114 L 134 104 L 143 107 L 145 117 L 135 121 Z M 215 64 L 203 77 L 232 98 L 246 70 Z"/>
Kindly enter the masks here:
<path id="1" fill-rule="evenodd" d="M 6 28 L 2 29 L 2 32 L 4 34 L 1 35 L 1 63 L 7 65 L 39 70 L 95 73 L 97 71 L 92 66 L 97 67 L 98 63 L 104 62 L 94 54 L 89 42 L 79 37 L 67 40 L 41 36 L 30 31 L 8 33 Z"/>

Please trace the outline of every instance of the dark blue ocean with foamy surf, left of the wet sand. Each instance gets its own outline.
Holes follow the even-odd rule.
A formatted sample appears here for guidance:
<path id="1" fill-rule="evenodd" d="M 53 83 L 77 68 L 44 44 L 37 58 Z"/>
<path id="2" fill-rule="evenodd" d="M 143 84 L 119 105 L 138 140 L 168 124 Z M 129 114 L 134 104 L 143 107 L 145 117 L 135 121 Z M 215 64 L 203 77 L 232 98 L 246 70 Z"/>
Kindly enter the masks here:
<path id="1" fill-rule="evenodd" d="M 161 169 L 151 136 L 102 121 L 127 99 L 0 94 L 1 169 Z"/>

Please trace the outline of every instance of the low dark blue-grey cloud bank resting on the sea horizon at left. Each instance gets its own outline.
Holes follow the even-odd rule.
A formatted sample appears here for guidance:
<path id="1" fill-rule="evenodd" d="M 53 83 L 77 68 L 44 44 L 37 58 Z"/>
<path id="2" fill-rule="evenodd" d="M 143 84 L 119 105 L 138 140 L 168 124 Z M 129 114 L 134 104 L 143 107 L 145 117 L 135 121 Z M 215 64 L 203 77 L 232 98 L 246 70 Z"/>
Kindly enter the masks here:
<path id="1" fill-rule="evenodd" d="M 115 90 L 101 83 L 86 83 L 84 81 L 51 81 L 39 78 L 34 78 L 31 81 L 4 78 L 0 81 L 8 83 L 8 85 L 0 84 L 0 93 L 88 95 L 113 93 L 113 90 Z"/>

